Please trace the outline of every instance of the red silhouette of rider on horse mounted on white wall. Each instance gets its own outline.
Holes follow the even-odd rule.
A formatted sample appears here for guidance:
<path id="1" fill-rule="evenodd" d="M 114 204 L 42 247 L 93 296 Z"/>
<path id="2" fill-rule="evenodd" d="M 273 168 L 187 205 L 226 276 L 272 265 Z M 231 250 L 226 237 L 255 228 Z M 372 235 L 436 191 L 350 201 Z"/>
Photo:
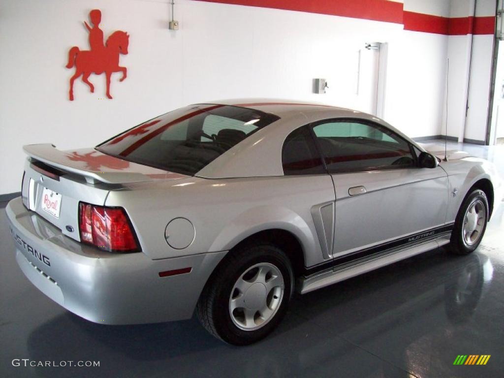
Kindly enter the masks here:
<path id="1" fill-rule="evenodd" d="M 70 100 L 74 100 L 74 81 L 82 75 L 82 81 L 89 86 L 91 93 L 94 92 L 94 86 L 89 81 L 91 74 L 101 75 L 105 73 L 107 80 L 107 97 L 110 95 L 110 77 L 114 72 L 122 72 L 119 81 L 126 78 L 126 68 L 119 66 L 119 54 L 128 53 L 129 34 L 123 31 L 115 31 L 103 44 L 103 31 L 99 25 L 101 22 L 101 12 L 93 9 L 89 13 L 91 26 L 84 21 L 84 25 L 89 32 L 89 51 L 80 50 L 74 46 L 68 54 L 67 68 L 75 67 L 75 74 L 70 78 Z"/>

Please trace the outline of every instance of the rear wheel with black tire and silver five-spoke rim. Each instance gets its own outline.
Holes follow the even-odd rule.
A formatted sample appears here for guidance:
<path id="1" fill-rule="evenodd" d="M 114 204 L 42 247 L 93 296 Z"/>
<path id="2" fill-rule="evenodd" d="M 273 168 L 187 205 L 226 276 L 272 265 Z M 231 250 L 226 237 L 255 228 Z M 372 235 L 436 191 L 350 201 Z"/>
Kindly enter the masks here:
<path id="1" fill-rule="evenodd" d="M 284 317 L 293 280 L 290 261 L 277 246 L 245 245 L 230 252 L 212 274 L 198 302 L 198 318 L 229 344 L 253 344 Z"/>

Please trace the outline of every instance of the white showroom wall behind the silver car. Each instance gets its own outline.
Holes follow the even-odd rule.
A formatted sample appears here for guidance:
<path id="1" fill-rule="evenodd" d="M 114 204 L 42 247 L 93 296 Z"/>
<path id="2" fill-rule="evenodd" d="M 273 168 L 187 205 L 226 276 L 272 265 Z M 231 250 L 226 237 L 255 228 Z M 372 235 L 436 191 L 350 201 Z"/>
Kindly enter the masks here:
<path id="1" fill-rule="evenodd" d="M 168 0 L 4 1 L 0 3 L 0 148 L 4 156 L 0 195 L 19 192 L 24 144 L 53 143 L 59 149 L 94 146 L 173 108 L 219 98 L 291 98 L 356 107 L 358 54 L 365 42 L 387 42 L 389 46 L 387 121 L 411 137 L 444 134 L 446 59 L 452 56 L 449 96 L 454 98 L 449 97 L 449 135 L 459 137 L 463 131 L 465 138 L 484 140 L 486 109 L 480 104 L 479 92 L 469 93 L 475 106 L 467 124 L 457 118 L 460 109 L 465 109 L 463 97 L 457 95 L 463 92 L 458 88 L 464 88 L 463 74 L 468 72 L 469 36 L 416 31 L 418 20 L 405 30 L 406 19 L 404 24 L 402 20 L 403 7 L 410 16 L 466 17 L 469 11 L 459 5 L 470 1 L 339 2 L 361 6 L 394 3 L 394 12 L 385 15 L 391 19 L 385 22 L 369 20 L 380 13 L 373 9 L 359 11 L 364 15 L 359 18 L 351 12 L 351 17 L 340 17 L 175 0 L 178 31 L 168 30 Z M 494 14 L 491 0 L 479 3 L 483 5 L 478 5 L 478 15 Z M 88 21 L 93 8 L 102 11 L 100 27 L 105 38 L 115 30 L 130 34 L 129 54 L 120 57 L 128 77 L 119 83 L 120 75 L 112 76 L 112 100 L 105 97 L 103 75 L 90 77 L 93 94 L 78 79 L 75 101 L 69 101 L 73 70 L 65 67 L 68 51 L 72 46 L 88 48 L 83 21 Z M 474 91 L 484 91 L 488 85 L 492 41 L 492 35 L 474 36 Z M 313 78 L 328 80 L 326 94 L 312 93 Z"/>

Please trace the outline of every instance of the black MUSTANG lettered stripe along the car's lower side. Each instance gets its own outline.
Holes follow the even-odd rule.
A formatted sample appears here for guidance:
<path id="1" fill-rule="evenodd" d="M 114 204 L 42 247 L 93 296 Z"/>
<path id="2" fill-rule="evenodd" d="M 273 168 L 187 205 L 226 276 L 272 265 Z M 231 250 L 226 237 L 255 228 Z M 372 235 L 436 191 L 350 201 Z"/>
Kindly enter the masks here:
<path id="1" fill-rule="evenodd" d="M 388 255 L 396 250 L 414 246 L 425 241 L 433 240 L 439 236 L 447 235 L 452 232 L 454 224 L 448 224 L 429 230 L 425 230 L 413 235 L 405 236 L 396 240 L 389 241 L 380 245 L 375 245 L 370 248 L 365 248 L 352 252 L 351 254 L 337 257 L 333 260 L 322 264 L 314 265 L 310 268 L 304 268 L 304 277 L 308 278 L 312 275 L 319 274 L 327 270 L 343 269 L 357 262 L 372 260 L 374 258 Z M 336 269 L 337 268 L 337 269 Z"/>

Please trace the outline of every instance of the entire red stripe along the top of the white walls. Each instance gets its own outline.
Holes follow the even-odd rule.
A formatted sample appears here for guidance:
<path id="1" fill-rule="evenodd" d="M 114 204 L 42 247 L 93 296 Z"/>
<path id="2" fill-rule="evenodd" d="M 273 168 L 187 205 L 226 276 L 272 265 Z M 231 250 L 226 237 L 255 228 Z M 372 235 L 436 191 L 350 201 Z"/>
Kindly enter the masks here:
<path id="1" fill-rule="evenodd" d="M 373 21 L 404 24 L 405 30 L 444 35 L 493 34 L 495 17 L 448 18 L 403 11 L 403 4 L 389 0 L 198 0 L 209 3 L 284 9 Z"/>

